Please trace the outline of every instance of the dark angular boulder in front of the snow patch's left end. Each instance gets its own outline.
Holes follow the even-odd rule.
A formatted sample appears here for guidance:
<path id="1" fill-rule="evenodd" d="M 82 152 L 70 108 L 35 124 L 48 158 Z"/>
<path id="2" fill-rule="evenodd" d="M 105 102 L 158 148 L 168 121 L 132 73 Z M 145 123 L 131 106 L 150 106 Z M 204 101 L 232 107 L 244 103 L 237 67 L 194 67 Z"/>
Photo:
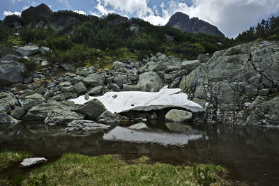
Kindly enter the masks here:
<path id="1" fill-rule="evenodd" d="M 93 99 L 84 103 L 80 107 L 77 107 L 74 111 L 84 114 L 86 118 L 96 120 L 104 111 L 106 111 L 106 109 L 102 102 Z"/>

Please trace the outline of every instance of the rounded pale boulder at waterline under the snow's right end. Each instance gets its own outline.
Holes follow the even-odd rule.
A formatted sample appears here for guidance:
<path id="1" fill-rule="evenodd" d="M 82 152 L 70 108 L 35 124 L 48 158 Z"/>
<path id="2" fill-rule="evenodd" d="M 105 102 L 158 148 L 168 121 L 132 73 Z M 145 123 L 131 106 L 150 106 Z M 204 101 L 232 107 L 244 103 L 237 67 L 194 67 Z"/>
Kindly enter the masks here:
<path id="1" fill-rule="evenodd" d="M 183 111 L 178 109 L 172 109 L 167 112 L 165 116 L 166 121 L 172 121 L 172 122 L 185 122 L 190 121 L 190 119 L 193 118 L 193 115 L 189 111 Z"/>

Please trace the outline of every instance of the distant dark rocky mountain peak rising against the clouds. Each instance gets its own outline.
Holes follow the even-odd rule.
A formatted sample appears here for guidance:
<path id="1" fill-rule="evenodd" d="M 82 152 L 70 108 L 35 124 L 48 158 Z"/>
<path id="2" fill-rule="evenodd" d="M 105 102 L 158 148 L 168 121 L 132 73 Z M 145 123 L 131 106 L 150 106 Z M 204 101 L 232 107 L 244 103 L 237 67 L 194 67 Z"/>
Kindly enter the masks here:
<path id="1" fill-rule="evenodd" d="M 218 30 L 216 26 L 199 20 L 197 17 L 190 17 L 184 13 L 177 12 L 170 17 L 169 22 L 166 24 L 181 31 L 187 31 L 189 33 L 206 33 L 208 35 L 216 35 L 225 37 L 225 35 Z"/>

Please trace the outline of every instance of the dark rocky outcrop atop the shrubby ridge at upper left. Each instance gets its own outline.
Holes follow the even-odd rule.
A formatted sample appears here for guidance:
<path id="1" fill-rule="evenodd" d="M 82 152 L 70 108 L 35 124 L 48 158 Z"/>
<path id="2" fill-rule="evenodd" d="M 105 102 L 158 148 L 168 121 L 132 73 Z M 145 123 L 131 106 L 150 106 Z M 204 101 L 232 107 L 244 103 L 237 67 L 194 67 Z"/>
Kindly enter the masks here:
<path id="1" fill-rule="evenodd" d="M 47 21 L 47 18 L 52 14 L 52 10 L 41 3 L 39 6 L 30 6 L 27 10 L 22 12 L 22 21 L 24 23 Z"/>

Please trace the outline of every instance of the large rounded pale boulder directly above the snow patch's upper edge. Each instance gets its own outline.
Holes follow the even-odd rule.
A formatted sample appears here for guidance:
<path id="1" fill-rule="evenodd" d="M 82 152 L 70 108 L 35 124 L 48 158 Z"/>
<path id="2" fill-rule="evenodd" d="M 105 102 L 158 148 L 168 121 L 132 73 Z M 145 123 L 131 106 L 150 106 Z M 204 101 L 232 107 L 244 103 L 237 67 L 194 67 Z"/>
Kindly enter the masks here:
<path id="1" fill-rule="evenodd" d="M 153 71 L 141 74 L 137 83 L 139 90 L 145 92 L 158 92 L 162 86 L 162 79 Z"/>

